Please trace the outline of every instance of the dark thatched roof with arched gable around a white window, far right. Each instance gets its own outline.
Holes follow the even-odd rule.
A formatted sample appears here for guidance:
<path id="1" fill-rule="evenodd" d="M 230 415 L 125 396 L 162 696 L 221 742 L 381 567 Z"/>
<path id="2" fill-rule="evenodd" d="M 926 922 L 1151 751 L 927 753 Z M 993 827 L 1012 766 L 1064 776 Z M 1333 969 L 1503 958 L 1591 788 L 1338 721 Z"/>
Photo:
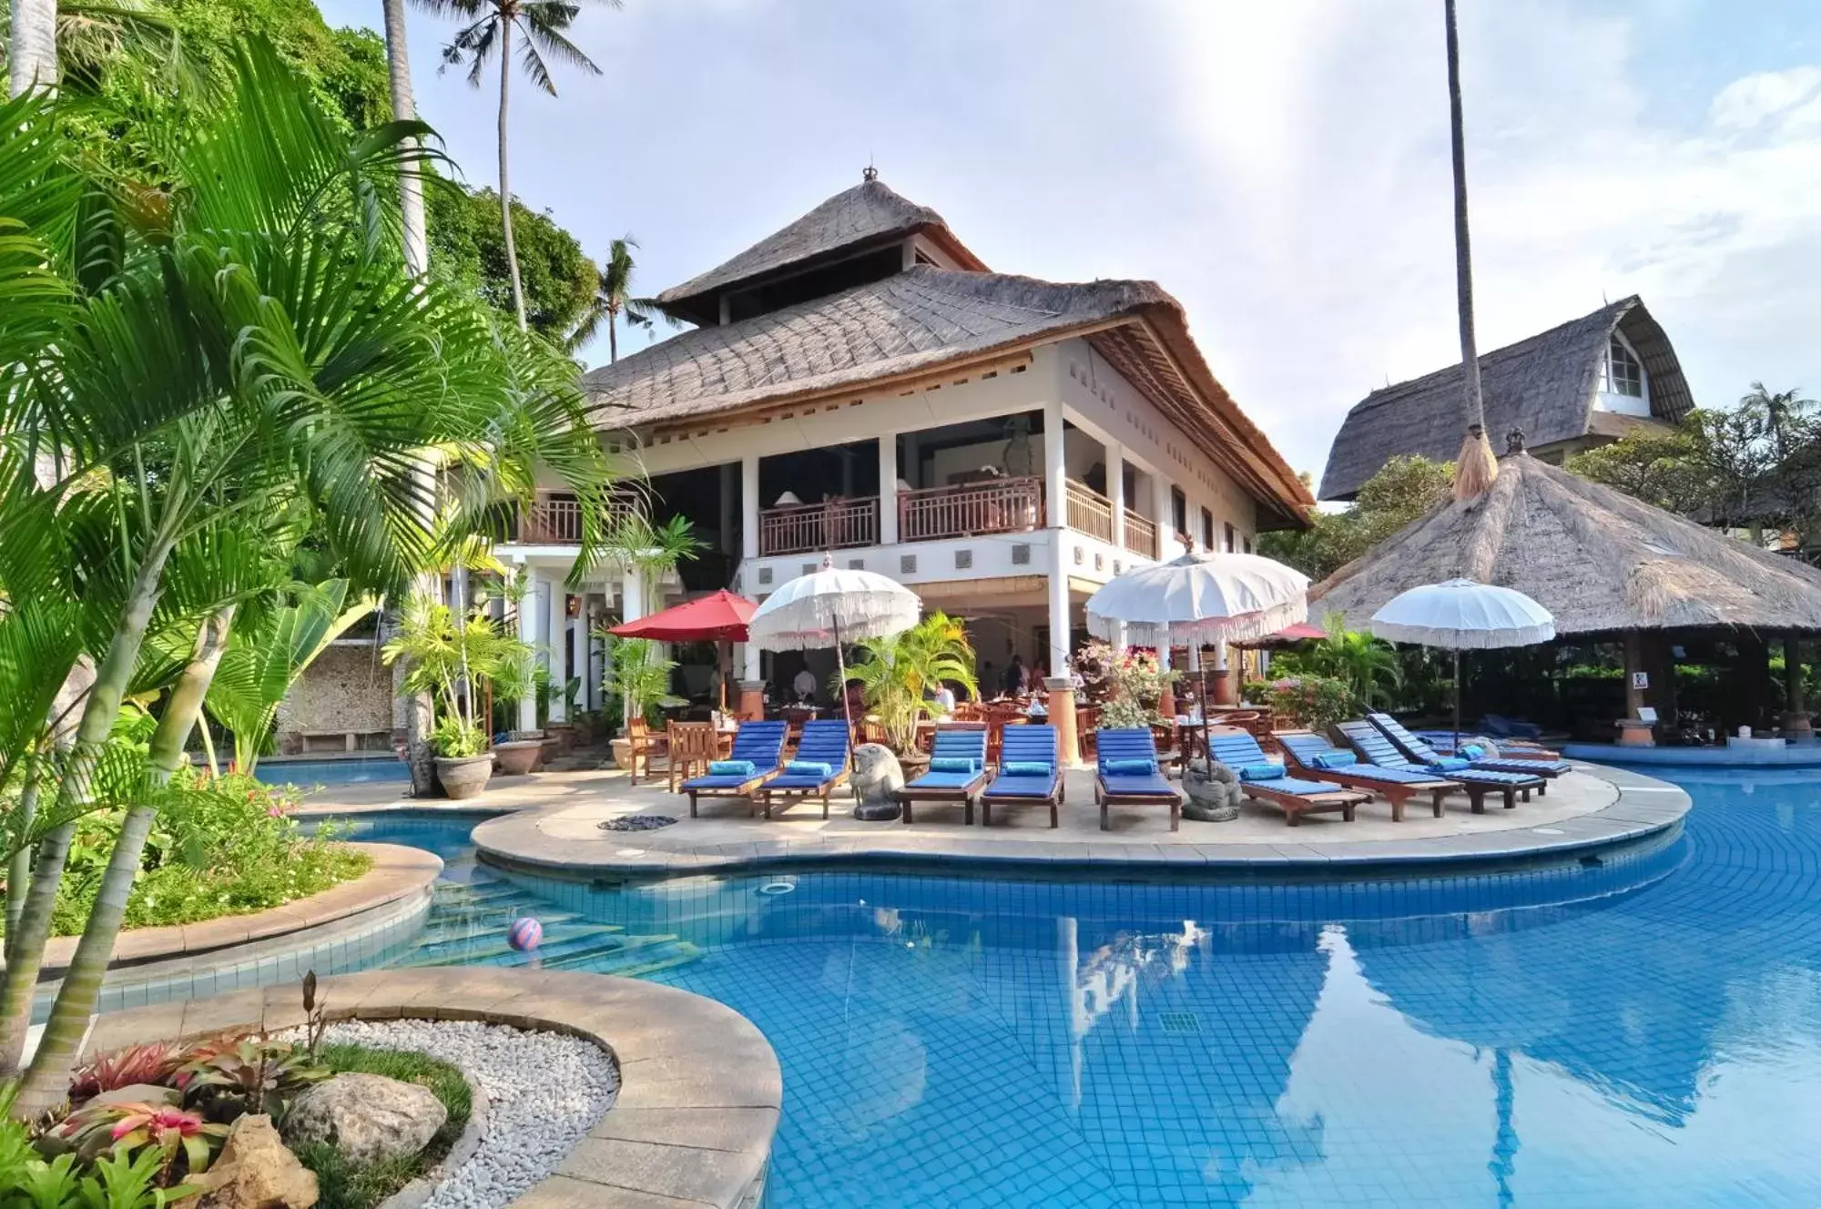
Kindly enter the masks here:
<path id="1" fill-rule="evenodd" d="M 1480 355 L 1486 435 L 1502 444 L 1522 428 L 1531 448 L 1570 441 L 1604 422 L 1595 419 L 1601 359 L 1621 331 L 1650 377 L 1652 415 L 1681 422 L 1694 408 L 1670 337 L 1632 295 L 1561 328 Z M 1328 452 L 1320 499 L 1353 499 L 1366 479 L 1399 453 L 1448 461 L 1460 448 L 1460 366 L 1386 386 L 1348 411 Z"/>

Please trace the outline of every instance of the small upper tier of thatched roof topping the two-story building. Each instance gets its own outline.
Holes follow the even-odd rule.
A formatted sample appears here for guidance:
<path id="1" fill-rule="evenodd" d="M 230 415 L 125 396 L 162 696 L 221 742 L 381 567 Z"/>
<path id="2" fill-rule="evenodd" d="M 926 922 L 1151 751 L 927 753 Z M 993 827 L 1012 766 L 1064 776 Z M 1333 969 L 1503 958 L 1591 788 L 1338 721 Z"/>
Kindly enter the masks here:
<path id="1" fill-rule="evenodd" d="M 657 302 L 666 311 L 690 317 L 701 310 L 701 302 L 710 295 L 801 271 L 814 264 L 827 264 L 918 231 L 936 237 L 963 268 L 985 268 L 974 253 L 954 239 L 941 215 L 929 206 L 918 206 L 900 197 L 885 182 L 872 177 L 852 189 L 836 193 L 790 226 L 767 235 L 730 260 L 688 279 L 681 286 L 665 290 L 657 295 Z"/>

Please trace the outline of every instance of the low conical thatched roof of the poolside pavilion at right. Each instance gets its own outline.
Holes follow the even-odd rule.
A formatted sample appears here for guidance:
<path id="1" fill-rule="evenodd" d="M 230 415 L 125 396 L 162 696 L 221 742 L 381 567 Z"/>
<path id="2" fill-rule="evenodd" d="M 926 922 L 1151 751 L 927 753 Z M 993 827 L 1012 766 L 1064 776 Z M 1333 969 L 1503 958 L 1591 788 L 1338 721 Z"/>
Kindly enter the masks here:
<path id="1" fill-rule="evenodd" d="M 1821 572 L 1652 508 L 1526 453 L 1480 499 L 1450 503 L 1309 590 L 1309 617 L 1364 630 L 1399 592 L 1464 575 L 1517 588 L 1555 632 L 1821 630 Z"/>

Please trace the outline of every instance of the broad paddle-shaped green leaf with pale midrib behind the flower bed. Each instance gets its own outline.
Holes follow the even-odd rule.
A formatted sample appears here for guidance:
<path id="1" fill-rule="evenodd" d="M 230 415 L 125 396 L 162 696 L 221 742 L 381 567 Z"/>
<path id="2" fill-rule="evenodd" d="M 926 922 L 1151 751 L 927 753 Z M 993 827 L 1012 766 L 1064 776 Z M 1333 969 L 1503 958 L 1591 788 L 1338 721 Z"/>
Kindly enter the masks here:
<path id="1" fill-rule="evenodd" d="M 259 765 L 279 705 L 310 665 L 379 606 L 373 597 L 361 597 L 344 608 L 346 579 L 295 584 L 288 595 L 291 603 L 266 625 L 233 630 L 204 697 L 208 712 L 233 732 L 233 765 L 240 772 L 253 772 Z"/>

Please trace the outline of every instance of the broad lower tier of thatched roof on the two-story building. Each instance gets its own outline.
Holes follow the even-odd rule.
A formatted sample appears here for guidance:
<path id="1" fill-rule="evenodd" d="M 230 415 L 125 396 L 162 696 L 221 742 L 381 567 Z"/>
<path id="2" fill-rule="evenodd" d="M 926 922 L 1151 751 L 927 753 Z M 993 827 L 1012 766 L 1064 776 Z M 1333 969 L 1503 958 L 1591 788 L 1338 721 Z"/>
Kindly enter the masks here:
<path id="1" fill-rule="evenodd" d="M 941 366 L 1085 335 L 1136 390 L 1282 521 L 1307 488 L 1238 410 L 1155 282 L 1056 284 L 927 264 L 717 328 L 696 328 L 583 377 L 603 428 L 688 421 L 818 393 L 883 390 Z M 1269 523 L 1269 517 L 1266 517 Z"/>

